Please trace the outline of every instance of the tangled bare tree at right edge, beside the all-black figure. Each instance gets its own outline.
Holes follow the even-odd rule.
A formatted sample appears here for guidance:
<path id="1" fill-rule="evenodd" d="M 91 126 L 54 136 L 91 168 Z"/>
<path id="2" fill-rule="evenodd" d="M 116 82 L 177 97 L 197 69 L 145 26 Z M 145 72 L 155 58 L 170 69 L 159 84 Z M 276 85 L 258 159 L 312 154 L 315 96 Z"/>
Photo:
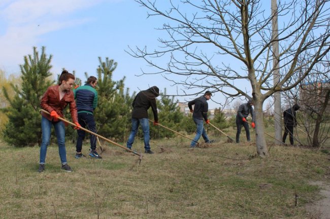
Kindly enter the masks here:
<path id="1" fill-rule="evenodd" d="M 318 63 L 299 86 L 284 94 L 289 107 L 292 107 L 294 102 L 301 105 L 298 128 L 306 133 L 309 146 L 321 147 L 330 137 L 329 56 Z"/>

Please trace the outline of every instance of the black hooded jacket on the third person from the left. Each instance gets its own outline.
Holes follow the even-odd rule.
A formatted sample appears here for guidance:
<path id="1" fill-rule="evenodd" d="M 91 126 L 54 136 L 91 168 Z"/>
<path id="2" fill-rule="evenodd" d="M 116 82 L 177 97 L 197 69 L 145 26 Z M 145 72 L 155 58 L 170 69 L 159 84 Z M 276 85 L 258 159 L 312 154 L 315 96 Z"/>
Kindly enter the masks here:
<path id="1" fill-rule="evenodd" d="M 159 89 L 157 86 L 152 86 L 146 91 L 140 91 L 135 97 L 132 106 L 132 118 L 148 118 L 148 109 L 151 107 L 153 112 L 153 119 L 158 121 L 156 97 L 159 96 Z"/>

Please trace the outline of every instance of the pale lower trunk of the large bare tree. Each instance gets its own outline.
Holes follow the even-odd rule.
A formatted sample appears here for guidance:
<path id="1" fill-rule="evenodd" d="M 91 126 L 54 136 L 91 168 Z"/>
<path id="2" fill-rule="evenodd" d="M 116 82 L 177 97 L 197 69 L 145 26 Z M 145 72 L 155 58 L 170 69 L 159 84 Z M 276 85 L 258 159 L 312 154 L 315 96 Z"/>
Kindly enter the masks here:
<path id="1" fill-rule="evenodd" d="M 267 157 L 269 154 L 265 139 L 265 126 L 263 125 L 262 101 L 254 99 L 253 106 L 255 114 L 255 143 L 257 146 L 257 153 L 260 157 Z"/>

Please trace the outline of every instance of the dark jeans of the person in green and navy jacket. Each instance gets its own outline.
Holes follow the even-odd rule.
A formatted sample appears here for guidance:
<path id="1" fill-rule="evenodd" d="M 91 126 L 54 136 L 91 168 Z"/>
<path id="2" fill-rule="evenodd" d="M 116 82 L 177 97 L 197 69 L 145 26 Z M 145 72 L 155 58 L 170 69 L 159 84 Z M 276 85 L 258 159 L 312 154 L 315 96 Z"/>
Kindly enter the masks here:
<path id="1" fill-rule="evenodd" d="M 90 130 L 93 133 L 96 133 L 96 124 L 94 121 L 94 116 L 92 113 L 78 113 L 78 122 L 81 125 L 81 127 L 83 128 L 87 128 L 88 130 Z M 81 152 L 81 148 L 82 148 L 82 143 L 85 139 L 85 131 L 78 129 L 78 139 L 77 139 L 77 145 L 76 145 L 76 149 L 77 152 Z M 96 149 L 96 136 L 90 134 L 90 149 L 91 150 L 95 150 Z"/>

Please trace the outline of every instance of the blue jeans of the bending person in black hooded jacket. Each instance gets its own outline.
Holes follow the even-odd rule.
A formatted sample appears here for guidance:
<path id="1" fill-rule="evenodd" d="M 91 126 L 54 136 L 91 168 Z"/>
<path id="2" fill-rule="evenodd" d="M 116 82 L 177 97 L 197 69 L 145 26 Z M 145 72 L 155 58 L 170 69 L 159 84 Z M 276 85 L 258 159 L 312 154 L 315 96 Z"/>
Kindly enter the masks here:
<path id="1" fill-rule="evenodd" d="M 143 130 L 143 138 L 144 138 L 144 149 L 150 150 L 149 140 L 150 140 L 150 134 L 149 134 L 149 121 L 148 118 L 132 118 L 132 130 L 130 131 L 126 147 L 131 149 L 132 145 L 134 143 L 134 138 L 138 133 L 139 124 L 141 124 L 142 130 Z"/>

